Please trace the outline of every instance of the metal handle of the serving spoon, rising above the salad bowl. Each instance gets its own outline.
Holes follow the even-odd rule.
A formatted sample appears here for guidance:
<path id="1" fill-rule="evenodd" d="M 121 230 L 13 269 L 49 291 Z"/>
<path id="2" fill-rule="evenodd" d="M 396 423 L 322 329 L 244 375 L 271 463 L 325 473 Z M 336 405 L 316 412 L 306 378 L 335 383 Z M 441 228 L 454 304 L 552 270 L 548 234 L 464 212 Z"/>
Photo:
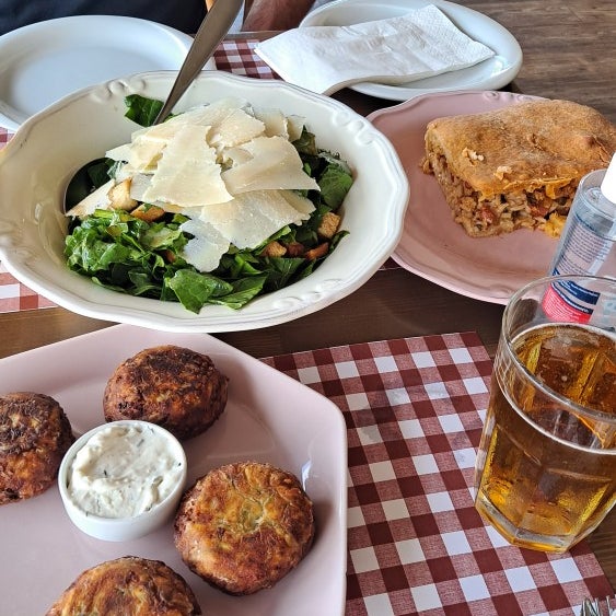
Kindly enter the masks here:
<path id="1" fill-rule="evenodd" d="M 161 124 L 172 112 L 229 32 L 243 3 L 244 0 L 219 0 L 213 3 L 195 35 L 195 40 L 184 58 L 167 100 L 154 124 Z"/>

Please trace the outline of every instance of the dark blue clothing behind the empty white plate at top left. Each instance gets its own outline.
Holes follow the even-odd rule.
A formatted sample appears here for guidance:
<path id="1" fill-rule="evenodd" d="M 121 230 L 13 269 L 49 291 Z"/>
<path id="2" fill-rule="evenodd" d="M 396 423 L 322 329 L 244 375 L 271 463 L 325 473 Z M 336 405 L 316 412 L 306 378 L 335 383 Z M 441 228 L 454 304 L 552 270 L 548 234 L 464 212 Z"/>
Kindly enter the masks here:
<path id="1" fill-rule="evenodd" d="M 125 15 L 195 34 L 205 0 L 0 0 L 0 35 L 31 23 L 69 15 Z"/>

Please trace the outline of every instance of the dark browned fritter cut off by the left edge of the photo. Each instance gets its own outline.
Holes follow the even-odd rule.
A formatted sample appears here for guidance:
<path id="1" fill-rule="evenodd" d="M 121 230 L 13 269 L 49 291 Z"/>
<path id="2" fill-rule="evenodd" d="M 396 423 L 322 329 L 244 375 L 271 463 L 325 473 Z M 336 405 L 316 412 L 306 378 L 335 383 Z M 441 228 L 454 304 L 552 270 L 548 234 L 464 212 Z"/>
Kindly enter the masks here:
<path id="1" fill-rule="evenodd" d="M 0 396 L 0 504 L 49 488 L 73 441 L 69 419 L 53 397 L 32 392 Z"/>

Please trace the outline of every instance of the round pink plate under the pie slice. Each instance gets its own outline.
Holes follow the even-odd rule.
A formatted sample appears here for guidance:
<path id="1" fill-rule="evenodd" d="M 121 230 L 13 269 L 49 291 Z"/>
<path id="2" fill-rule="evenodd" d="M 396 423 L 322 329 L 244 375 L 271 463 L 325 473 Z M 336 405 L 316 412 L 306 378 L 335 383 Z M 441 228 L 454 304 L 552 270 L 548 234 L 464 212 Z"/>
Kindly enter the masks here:
<path id="1" fill-rule="evenodd" d="M 434 177 L 420 167 L 430 120 L 531 98 L 511 92 L 443 92 L 425 94 L 369 116 L 394 144 L 410 184 L 402 240 L 392 255 L 398 265 L 456 293 L 498 304 L 505 304 L 514 291 L 547 274 L 556 240 L 527 230 L 498 237 L 469 237 L 453 221 Z"/>

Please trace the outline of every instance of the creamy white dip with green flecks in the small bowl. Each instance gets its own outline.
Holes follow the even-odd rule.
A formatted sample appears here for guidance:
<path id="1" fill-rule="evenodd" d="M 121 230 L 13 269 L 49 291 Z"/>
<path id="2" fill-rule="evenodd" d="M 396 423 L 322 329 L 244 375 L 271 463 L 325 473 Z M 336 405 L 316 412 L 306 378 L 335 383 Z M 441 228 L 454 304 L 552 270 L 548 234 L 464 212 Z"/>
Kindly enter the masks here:
<path id="1" fill-rule="evenodd" d="M 79 450 L 68 470 L 68 492 L 86 513 L 132 518 L 162 502 L 177 485 L 182 462 L 150 427 L 113 426 Z"/>

